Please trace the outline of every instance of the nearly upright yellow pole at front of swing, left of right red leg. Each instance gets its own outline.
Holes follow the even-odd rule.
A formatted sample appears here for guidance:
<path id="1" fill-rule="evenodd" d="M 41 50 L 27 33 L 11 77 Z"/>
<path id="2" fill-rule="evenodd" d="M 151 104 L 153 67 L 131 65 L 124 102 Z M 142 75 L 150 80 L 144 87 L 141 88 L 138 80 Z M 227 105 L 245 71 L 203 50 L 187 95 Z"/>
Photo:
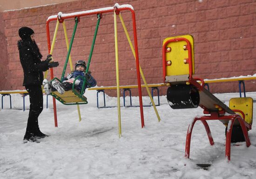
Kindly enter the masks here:
<path id="1" fill-rule="evenodd" d="M 116 92 L 117 92 L 117 109 L 118 109 L 118 128 L 119 137 L 121 137 L 121 111 L 120 111 L 120 88 L 119 88 L 119 67 L 118 67 L 118 45 L 117 45 L 117 26 L 116 14 L 114 11 L 114 27 L 115 27 L 115 69 L 116 69 Z"/>

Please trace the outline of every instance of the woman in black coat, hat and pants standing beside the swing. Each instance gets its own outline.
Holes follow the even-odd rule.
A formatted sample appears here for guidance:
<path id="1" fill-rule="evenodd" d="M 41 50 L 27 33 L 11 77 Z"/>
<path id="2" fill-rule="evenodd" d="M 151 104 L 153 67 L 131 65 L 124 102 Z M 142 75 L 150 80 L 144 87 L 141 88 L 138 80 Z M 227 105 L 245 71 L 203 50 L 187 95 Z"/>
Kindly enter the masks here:
<path id="1" fill-rule="evenodd" d="M 27 130 L 23 140 L 24 142 L 34 142 L 39 138 L 48 136 L 43 134 L 38 126 L 38 116 L 43 110 L 43 93 L 41 88 L 43 71 L 57 67 L 59 63 L 49 63 L 51 60 L 49 58 L 45 61 L 41 61 L 42 55 L 34 41 L 34 31 L 31 28 L 21 27 L 19 29 L 19 36 L 21 38 L 21 40 L 18 41 L 20 63 L 24 73 L 23 86 L 25 86 L 29 93 L 30 101 Z"/>

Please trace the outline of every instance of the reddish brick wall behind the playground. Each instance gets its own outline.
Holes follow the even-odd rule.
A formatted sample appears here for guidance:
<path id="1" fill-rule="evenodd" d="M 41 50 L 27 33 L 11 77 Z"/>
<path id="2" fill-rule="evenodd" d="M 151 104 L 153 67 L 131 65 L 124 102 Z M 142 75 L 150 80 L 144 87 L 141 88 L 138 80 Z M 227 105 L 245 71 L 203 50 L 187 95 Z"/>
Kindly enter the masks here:
<path id="1" fill-rule="evenodd" d="M 5 86 L 0 90 L 17 90 L 22 87 L 22 68 L 19 62 L 18 29 L 29 26 L 36 33 L 36 42 L 43 58 L 46 57 L 47 37 L 45 22 L 50 15 L 78 12 L 119 4 L 131 4 L 135 9 L 139 58 L 148 83 L 162 83 L 162 41 L 164 38 L 191 34 L 195 39 L 195 77 L 221 78 L 246 76 L 256 73 L 256 2 L 254 0 L 78 0 L 51 6 L 8 11 L 2 13 L 4 36 L 7 39 L 7 59 L 1 58 L 0 68 L 7 68 Z M 130 12 L 122 13 L 128 31 L 132 35 Z M 74 20 L 67 20 L 68 38 L 71 38 Z M 82 17 L 78 24 L 71 52 L 73 61 L 87 61 L 94 35 L 96 16 Z M 50 23 L 53 37 L 55 23 Z M 59 28 L 53 57 L 60 62 L 54 69 L 61 76 L 66 59 L 66 44 L 62 26 Z M 2 35 L 3 36 L 3 35 Z M 5 38 L 0 37 L 1 42 Z M 133 38 L 132 38 L 133 39 Z M 115 44 L 113 14 L 103 14 L 94 54 L 90 65 L 98 86 L 112 86 L 115 80 Z M 118 19 L 118 50 L 120 85 L 136 84 L 135 60 Z M 1 50 L 5 47 L 1 48 Z M 3 50 L 4 51 L 4 50 Z M 8 64 L 3 67 L 4 64 Z M 69 67 L 68 67 L 69 68 Z M 68 69 L 67 68 L 67 69 Z M 67 70 L 69 71 L 69 70 Z M 0 70 L 5 76 L 6 71 Z M 256 91 L 255 81 L 246 81 L 247 91 Z M 216 92 L 236 92 L 238 83 L 210 84 Z M 165 94 L 166 90 L 161 90 Z M 111 95 L 115 96 L 113 91 Z M 134 90 L 137 95 L 137 90 Z M 143 91 L 146 95 L 146 92 Z"/>

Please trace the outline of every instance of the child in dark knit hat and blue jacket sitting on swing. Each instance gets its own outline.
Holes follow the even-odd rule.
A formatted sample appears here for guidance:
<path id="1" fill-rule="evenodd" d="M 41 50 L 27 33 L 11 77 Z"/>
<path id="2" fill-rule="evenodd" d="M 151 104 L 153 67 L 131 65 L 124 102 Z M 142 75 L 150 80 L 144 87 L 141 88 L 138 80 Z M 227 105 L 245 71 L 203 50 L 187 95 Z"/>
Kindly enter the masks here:
<path id="1" fill-rule="evenodd" d="M 72 90 L 73 83 L 75 85 L 74 88 L 79 92 L 81 92 L 82 86 L 83 86 L 83 78 L 81 77 L 85 77 L 87 80 L 87 83 L 89 84 L 89 85 L 85 84 L 83 93 L 87 88 L 96 86 L 97 82 L 94 79 L 94 77 L 91 76 L 90 74 L 91 72 L 88 71 L 88 73 L 85 73 L 85 70 L 86 70 L 85 61 L 78 60 L 75 63 L 75 70 L 71 72 L 71 74 L 67 74 L 67 77 L 64 77 L 62 83 L 60 83 L 57 80 L 54 80 L 51 84 L 49 84 L 48 80 L 44 79 L 43 86 L 44 86 L 45 94 L 49 95 L 51 91 L 54 91 L 54 90 L 57 90 L 60 94 L 63 94 L 65 91 Z M 79 75 L 81 77 L 78 77 Z M 78 78 L 77 80 L 74 81 L 76 77 Z"/>

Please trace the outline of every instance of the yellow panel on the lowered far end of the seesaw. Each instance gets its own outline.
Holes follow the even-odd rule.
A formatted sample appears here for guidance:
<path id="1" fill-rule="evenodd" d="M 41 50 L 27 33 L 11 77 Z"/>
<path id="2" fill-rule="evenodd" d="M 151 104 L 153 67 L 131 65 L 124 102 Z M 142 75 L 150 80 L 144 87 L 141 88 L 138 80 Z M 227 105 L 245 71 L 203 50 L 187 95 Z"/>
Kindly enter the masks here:
<path id="1" fill-rule="evenodd" d="M 236 97 L 229 100 L 230 109 L 239 109 L 245 115 L 245 121 L 252 124 L 253 99 L 251 97 Z M 237 112 L 238 113 L 238 112 Z"/>

